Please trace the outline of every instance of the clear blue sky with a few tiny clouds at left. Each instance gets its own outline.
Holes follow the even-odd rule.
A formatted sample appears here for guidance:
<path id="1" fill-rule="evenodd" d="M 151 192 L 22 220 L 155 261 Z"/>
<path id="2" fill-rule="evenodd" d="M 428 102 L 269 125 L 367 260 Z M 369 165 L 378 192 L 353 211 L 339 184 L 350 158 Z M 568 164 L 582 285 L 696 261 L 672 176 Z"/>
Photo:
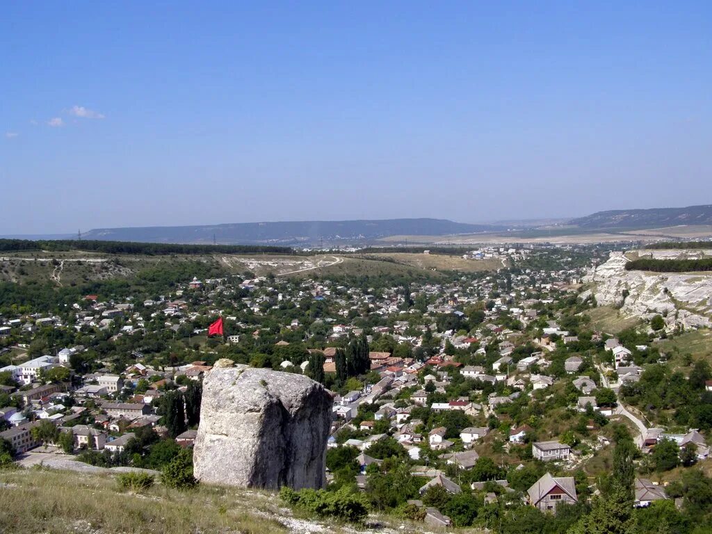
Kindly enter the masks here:
<path id="1" fill-rule="evenodd" d="M 712 203 L 712 3 L 4 2 L 0 234 Z"/>

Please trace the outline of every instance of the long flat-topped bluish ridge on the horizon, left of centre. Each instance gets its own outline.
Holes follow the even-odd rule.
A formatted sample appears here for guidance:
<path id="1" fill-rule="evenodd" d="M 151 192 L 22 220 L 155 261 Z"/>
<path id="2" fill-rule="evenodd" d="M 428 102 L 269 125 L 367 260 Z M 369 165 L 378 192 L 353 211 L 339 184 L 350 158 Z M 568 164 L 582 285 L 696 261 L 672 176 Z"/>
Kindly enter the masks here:
<path id="1" fill-rule="evenodd" d="M 84 239 L 149 243 L 307 245 L 321 240 L 372 241 L 387 236 L 446 236 L 499 231 L 505 226 L 465 224 L 446 219 L 381 219 L 375 221 L 285 221 L 205 226 L 146 226 L 93 229 Z"/>

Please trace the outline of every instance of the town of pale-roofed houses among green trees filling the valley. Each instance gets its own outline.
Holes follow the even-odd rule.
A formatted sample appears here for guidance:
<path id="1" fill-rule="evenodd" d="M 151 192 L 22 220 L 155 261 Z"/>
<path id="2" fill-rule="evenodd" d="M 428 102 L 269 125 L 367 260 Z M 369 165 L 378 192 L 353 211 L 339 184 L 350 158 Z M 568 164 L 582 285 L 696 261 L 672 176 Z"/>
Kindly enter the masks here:
<path id="1" fill-rule="evenodd" d="M 565 531 L 611 484 L 614 449 L 634 444 L 630 513 L 691 532 L 712 513 L 691 489 L 712 489 L 701 469 L 712 372 L 674 343 L 703 330 L 598 306 L 586 279 L 612 250 L 483 247 L 461 256 L 500 268 L 410 275 L 191 263 L 192 276 L 93 283 L 61 302 L 0 295 L 0 462 L 185 462 L 201 382 L 227 358 L 333 392 L 328 489 L 360 491 L 374 511 L 500 532 L 555 520 Z M 219 318 L 222 335 L 208 336 Z"/>

